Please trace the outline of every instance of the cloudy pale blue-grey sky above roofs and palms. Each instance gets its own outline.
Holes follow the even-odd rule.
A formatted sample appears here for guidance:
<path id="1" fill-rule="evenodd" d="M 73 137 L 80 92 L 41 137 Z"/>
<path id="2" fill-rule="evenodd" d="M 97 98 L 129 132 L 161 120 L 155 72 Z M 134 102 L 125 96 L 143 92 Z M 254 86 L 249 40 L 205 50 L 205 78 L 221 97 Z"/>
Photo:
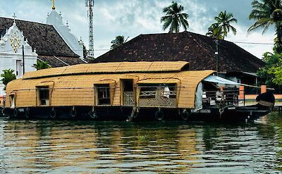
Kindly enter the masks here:
<path id="1" fill-rule="evenodd" d="M 162 8 L 171 0 L 94 0 L 94 49 L 95 56 L 109 51 L 111 40 L 117 35 L 133 39 L 140 34 L 164 32 L 159 22 Z M 226 38 L 235 42 L 250 53 L 261 58 L 265 51 L 271 51 L 271 44 L 240 44 L 238 42 L 273 43 L 274 30 L 262 35 L 257 30 L 247 35 L 247 28 L 253 21 L 247 19 L 252 0 L 176 0 L 189 14 L 188 31 L 204 35 L 214 16 L 220 11 L 233 13 L 238 19 L 234 24 L 237 35 Z M 13 13 L 20 20 L 46 23 L 47 13 L 51 11 L 51 0 L 0 0 L 0 16 L 12 18 Z M 63 20 L 71 27 L 71 32 L 82 37 L 88 45 L 88 20 L 85 0 L 56 0 L 56 11 L 61 12 Z M 166 32 L 166 31 L 165 31 Z"/>

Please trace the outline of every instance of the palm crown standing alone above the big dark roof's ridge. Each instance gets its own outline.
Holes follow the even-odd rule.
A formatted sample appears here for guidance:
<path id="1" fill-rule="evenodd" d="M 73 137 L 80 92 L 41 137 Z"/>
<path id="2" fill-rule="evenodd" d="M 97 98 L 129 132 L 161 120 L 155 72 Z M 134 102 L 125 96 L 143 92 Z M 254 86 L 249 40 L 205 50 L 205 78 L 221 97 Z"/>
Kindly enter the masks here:
<path id="1" fill-rule="evenodd" d="M 171 5 L 164 8 L 163 12 L 165 15 L 161 17 L 161 23 L 164 23 L 163 30 L 169 27 L 168 32 L 179 32 L 182 26 L 186 31 L 189 27 L 188 14 L 182 13 L 184 10 L 183 6 L 178 5 L 176 2 L 172 1 Z"/>

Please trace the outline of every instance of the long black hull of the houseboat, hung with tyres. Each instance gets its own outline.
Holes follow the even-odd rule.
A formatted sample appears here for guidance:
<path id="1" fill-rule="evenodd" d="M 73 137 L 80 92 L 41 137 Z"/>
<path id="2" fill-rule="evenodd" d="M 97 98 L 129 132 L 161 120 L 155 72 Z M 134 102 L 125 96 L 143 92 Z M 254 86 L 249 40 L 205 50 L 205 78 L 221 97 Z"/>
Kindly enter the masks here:
<path id="1" fill-rule="evenodd" d="M 34 107 L 5 108 L 5 116 L 10 119 L 49 119 L 49 120 L 187 120 L 187 121 L 245 121 L 256 120 L 271 111 L 269 107 L 229 106 L 223 109 L 211 107 L 198 112 L 178 108 L 139 108 L 133 107 Z"/>

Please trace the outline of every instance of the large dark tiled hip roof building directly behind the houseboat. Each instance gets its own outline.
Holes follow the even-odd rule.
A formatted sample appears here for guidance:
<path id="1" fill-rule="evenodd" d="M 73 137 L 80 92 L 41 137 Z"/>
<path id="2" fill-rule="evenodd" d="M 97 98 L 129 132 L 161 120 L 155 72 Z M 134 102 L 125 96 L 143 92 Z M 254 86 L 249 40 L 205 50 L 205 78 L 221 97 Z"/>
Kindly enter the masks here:
<path id="1" fill-rule="evenodd" d="M 139 35 L 93 60 L 188 61 L 190 70 L 216 70 L 216 42 L 193 32 Z M 219 75 L 235 82 L 255 85 L 256 72 L 264 62 L 233 42 L 219 40 Z M 169 65 L 168 65 L 169 66 Z"/>

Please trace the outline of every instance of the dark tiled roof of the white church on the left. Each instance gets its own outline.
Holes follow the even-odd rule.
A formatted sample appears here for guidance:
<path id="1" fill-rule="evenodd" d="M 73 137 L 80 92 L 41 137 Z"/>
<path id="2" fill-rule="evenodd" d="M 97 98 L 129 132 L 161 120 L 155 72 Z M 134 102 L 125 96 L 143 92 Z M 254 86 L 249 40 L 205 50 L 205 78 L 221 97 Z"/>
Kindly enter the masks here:
<path id="1" fill-rule="evenodd" d="M 13 19 L 0 17 L 0 35 L 5 35 L 12 25 Z M 23 31 L 23 36 L 32 46 L 32 50 L 36 50 L 40 61 L 49 61 L 52 67 L 85 63 L 70 49 L 52 25 L 25 20 L 16 20 L 16 25 Z"/>

